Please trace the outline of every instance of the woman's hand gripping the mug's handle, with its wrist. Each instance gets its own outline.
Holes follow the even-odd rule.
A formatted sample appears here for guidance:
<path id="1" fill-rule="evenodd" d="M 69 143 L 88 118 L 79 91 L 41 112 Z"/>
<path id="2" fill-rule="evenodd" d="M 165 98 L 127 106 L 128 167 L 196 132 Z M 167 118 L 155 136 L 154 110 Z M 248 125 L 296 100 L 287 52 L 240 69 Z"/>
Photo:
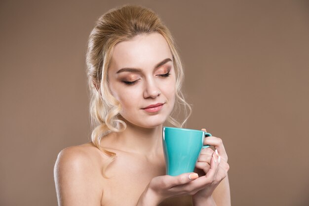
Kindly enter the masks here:
<path id="1" fill-rule="evenodd" d="M 206 132 L 206 129 L 202 130 Z M 211 199 L 212 193 L 216 186 L 218 186 L 219 183 L 227 176 L 228 170 L 230 169 L 228 164 L 228 155 L 220 138 L 214 136 L 205 137 L 204 145 L 214 146 L 215 150 L 217 151 L 216 154 L 218 154 L 218 158 L 220 157 L 219 169 L 216 174 L 217 181 L 215 187 L 208 187 L 195 193 L 192 196 L 193 202 L 204 202 L 208 199 Z M 194 172 L 196 172 L 199 177 L 204 176 L 210 169 L 210 161 L 213 153 L 214 151 L 209 147 L 202 149 L 194 170 Z"/>

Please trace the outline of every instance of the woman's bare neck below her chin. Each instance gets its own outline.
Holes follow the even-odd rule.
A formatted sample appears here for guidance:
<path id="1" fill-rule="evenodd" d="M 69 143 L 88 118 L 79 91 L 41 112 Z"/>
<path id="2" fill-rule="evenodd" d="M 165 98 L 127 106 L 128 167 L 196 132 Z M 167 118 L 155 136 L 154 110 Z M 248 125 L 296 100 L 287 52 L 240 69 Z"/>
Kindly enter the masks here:
<path id="1" fill-rule="evenodd" d="M 115 143 L 121 150 L 147 156 L 162 152 L 162 124 L 144 128 L 127 121 L 125 123 L 124 131 L 114 133 Z"/>

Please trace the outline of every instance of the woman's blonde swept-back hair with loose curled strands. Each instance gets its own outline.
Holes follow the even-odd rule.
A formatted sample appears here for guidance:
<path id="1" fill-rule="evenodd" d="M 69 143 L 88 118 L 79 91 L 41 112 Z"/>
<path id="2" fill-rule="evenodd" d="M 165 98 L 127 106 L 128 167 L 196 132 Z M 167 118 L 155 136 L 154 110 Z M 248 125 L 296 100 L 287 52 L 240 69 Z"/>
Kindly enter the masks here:
<path id="1" fill-rule="evenodd" d="M 116 153 L 105 150 L 100 146 L 102 137 L 110 132 L 120 132 L 126 124 L 119 119 L 121 105 L 110 93 L 107 71 L 110 66 L 114 46 L 120 41 L 132 40 L 137 35 L 157 32 L 167 41 L 173 55 L 173 64 L 176 74 L 175 106 L 167 121 L 177 127 L 182 127 L 191 115 L 191 107 L 185 101 L 181 91 L 184 80 L 184 71 L 176 43 L 160 18 L 149 8 L 126 4 L 109 10 L 103 14 L 92 30 L 86 54 L 88 85 L 90 89 L 90 116 L 91 141 L 105 155 L 109 157 L 103 167 L 105 176 L 106 167 L 112 163 Z M 182 124 L 172 117 L 179 114 L 184 106 L 186 119 Z M 188 114 L 189 112 L 189 114 Z M 105 176 L 106 177 L 106 176 Z"/>

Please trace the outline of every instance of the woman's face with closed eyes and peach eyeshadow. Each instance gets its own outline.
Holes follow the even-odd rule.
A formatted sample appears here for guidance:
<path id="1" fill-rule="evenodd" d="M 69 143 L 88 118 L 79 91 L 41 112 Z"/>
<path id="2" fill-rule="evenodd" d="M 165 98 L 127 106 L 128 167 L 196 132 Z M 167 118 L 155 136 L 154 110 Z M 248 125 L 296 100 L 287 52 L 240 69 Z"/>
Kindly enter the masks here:
<path id="1" fill-rule="evenodd" d="M 174 107 L 176 78 L 172 53 L 158 33 L 116 44 L 108 79 L 126 122 L 152 128 L 163 124 Z"/>

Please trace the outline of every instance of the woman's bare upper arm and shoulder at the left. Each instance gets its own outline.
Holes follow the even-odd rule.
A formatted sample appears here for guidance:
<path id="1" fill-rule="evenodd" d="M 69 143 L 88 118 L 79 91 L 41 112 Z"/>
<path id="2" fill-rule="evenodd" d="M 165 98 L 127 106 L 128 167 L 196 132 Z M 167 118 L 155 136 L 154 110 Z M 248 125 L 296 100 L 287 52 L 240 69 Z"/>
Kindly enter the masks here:
<path id="1" fill-rule="evenodd" d="M 59 206 L 101 206 L 102 189 L 88 155 L 77 147 L 62 150 L 54 167 Z"/>

